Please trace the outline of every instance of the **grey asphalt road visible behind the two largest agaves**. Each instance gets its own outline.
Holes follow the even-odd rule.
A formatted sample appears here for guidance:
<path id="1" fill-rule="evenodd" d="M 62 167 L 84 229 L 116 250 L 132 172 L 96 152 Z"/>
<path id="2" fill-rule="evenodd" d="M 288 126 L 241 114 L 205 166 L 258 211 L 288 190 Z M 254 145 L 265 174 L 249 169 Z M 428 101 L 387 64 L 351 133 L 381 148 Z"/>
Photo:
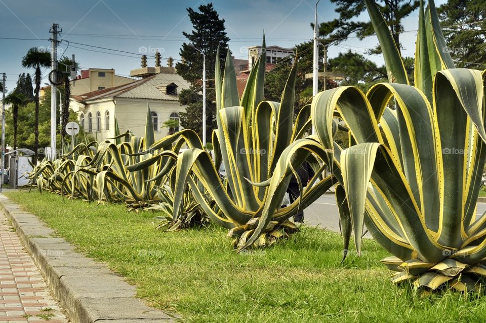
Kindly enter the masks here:
<path id="1" fill-rule="evenodd" d="M 477 213 L 486 211 L 486 203 L 477 203 Z M 304 222 L 308 225 L 339 232 L 339 212 L 334 194 L 324 194 L 304 210 Z"/>

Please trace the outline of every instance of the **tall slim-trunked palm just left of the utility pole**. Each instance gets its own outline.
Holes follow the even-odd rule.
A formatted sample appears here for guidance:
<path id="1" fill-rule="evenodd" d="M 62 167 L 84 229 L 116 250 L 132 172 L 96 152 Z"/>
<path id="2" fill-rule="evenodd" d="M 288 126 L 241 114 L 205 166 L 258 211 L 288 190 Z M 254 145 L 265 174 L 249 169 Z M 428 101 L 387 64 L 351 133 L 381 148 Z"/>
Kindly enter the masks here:
<path id="1" fill-rule="evenodd" d="M 22 57 L 22 66 L 35 69 L 35 123 L 34 123 L 34 164 L 37 162 L 39 149 L 39 91 L 41 90 L 41 67 L 51 66 L 51 54 L 39 51 L 37 47 L 32 47 Z M 56 149 L 53 147 L 52 149 Z"/>

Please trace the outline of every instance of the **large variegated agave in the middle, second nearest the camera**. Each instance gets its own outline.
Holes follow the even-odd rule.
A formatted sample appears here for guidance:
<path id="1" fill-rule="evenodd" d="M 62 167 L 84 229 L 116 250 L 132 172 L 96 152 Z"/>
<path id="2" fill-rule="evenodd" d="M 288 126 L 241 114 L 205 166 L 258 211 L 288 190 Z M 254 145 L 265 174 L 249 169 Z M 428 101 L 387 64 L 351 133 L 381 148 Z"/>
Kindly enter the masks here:
<path id="1" fill-rule="evenodd" d="M 216 61 L 218 128 L 212 136 L 214 154 L 211 156 L 202 149 L 200 142 L 196 142 L 199 147 L 188 142 L 189 149 L 177 158 L 173 219 L 181 217 L 183 195 L 189 186 L 208 216 L 230 229 L 229 235 L 235 238 L 239 250 L 270 244 L 298 230 L 288 219 L 328 190 L 333 177 L 320 175 L 323 164 L 332 161 L 332 152 L 322 149 L 315 136 L 304 138 L 311 126 L 310 105 L 304 106 L 294 119 L 297 61 L 280 102 L 263 101 L 264 51 L 251 71 L 241 99 L 229 51 L 223 79 L 219 60 Z M 151 149 L 159 149 L 167 140 L 161 139 Z M 291 176 L 304 161 L 312 165 L 316 176 L 311 185 L 301 190 L 299 199 L 281 207 Z M 226 171 L 225 183 L 218 172 L 221 164 Z M 219 212 L 207 203 L 193 176 L 215 201 Z"/>

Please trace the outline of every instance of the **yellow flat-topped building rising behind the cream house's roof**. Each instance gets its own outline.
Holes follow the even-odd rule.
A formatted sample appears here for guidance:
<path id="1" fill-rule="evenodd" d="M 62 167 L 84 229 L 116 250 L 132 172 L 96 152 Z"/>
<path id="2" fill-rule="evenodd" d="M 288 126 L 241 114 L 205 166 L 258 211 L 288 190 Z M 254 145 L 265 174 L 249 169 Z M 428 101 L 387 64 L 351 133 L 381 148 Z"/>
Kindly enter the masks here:
<path id="1" fill-rule="evenodd" d="M 84 93 L 129 84 L 134 81 L 135 79 L 116 75 L 113 68 L 85 69 L 81 71 L 80 75 L 76 78 L 76 80 L 71 80 L 71 95 L 81 95 Z M 43 97 L 45 91 L 50 92 L 51 87 L 42 87 L 41 93 L 39 95 Z"/>

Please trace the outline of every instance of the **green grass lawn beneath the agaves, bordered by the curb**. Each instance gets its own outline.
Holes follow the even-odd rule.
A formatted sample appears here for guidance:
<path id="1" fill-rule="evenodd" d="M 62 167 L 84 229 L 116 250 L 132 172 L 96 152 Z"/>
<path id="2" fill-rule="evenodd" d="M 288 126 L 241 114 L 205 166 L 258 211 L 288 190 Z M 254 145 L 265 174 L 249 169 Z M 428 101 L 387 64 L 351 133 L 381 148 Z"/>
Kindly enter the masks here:
<path id="1" fill-rule="evenodd" d="M 341 263 L 339 234 L 303 227 L 291 240 L 238 255 L 221 228 L 166 233 L 153 230 L 155 213 L 127 212 L 124 205 L 6 195 L 124 275 L 150 305 L 184 321 L 486 321 L 484 296 L 418 296 L 393 285 L 379 263 L 387 253 L 372 240 L 363 241 L 361 257 Z"/>

